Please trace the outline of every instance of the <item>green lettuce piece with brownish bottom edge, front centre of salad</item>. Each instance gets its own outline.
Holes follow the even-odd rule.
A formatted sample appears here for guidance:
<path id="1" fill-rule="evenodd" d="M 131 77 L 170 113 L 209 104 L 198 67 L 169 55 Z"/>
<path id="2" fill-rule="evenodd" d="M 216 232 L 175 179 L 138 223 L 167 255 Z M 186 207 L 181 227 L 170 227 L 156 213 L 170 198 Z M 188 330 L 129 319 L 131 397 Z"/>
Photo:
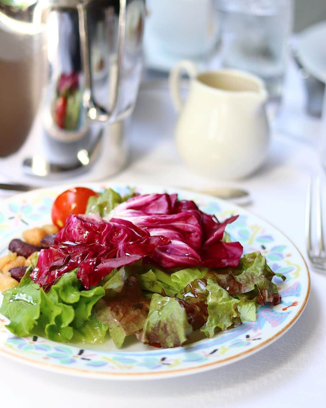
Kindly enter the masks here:
<path id="1" fill-rule="evenodd" d="M 192 332 L 185 309 L 174 297 L 154 293 L 143 331 L 137 337 L 145 344 L 181 346 Z"/>

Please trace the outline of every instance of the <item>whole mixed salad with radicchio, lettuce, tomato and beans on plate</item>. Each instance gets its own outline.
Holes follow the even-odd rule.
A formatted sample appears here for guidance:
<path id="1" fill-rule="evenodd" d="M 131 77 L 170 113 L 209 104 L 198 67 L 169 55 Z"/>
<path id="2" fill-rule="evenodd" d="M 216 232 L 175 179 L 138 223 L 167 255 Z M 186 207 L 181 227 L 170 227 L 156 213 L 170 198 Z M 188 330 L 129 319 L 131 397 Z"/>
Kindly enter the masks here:
<path id="1" fill-rule="evenodd" d="M 281 302 L 260 252 L 243 255 L 220 222 L 177 194 L 121 196 L 77 187 L 57 197 L 49 226 L 13 239 L 0 259 L 0 313 L 17 336 L 117 347 L 129 335 L 155 347 L 182 346 L 256 320 L 260 305 Z M 43 232 L 41 232 L 43 231 Z M 58 232 L 57 232 L 58 231 Z M 8 266 L 9 265 L 9 266 Z"/>

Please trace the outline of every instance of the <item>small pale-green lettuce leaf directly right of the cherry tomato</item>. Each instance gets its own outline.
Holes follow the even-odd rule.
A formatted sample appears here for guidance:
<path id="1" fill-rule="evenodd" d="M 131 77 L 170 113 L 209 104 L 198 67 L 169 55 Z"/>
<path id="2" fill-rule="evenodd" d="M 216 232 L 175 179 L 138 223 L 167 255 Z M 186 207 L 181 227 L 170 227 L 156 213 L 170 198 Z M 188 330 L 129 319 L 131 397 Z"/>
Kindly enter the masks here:
<path id="1" fill-rule="evenodd" d="M 121 197 L 119 193 L 112 190 L 112 188 L 107 188 L 103 193 L 97 197 L 96 195 L 88 199 L 86 214 L 98 213 L 101 217 L 104 217 L 110 211 L 113 210 L 117 205 L 127 201 L 134 194 L 134 189 L 130 189 L 130 193 Z"/>

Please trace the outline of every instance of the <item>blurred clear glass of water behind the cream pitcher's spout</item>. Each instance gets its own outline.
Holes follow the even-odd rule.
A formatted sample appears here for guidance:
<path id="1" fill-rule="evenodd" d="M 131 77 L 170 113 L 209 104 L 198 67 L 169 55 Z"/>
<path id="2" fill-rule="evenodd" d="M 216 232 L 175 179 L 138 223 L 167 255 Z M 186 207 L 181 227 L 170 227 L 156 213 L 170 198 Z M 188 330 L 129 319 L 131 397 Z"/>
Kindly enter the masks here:
<path id="1" fill-rule="evenodd" d="M 260 76 L 280 97 L 293 0 L 218 0 L 222 65 Z"/>

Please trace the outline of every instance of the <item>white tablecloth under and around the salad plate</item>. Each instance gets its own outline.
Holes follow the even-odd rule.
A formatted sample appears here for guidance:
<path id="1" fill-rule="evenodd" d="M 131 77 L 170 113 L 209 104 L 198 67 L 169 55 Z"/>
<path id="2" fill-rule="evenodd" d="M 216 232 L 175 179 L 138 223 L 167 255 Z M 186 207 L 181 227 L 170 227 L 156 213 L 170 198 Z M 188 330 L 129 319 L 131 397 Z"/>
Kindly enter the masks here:
<path id="1" fill-rule="evenodd" d="M 248 189 L 253 199 L 249 211 L 284 231 L 305 255 L 306 182 L 309 174 L 323 174 L 316 149 L 322 125 L 302 114 L 297 80 L 295 75 L 288 78 L 285 101 L 289 110 L 277 126 L 283 127 L 282 132 L 272 134 L 267 162 L 247 180 L 229 184 Z M 291 115 L 296 124 L 289 133 L 304 142 L 284 135 Z M 173 143 L 175 120 L 167 91 L 143 89 L 130 131 L 130 164 L 112 182 L 212 185 L 213 181 L 189 172 L 178 160 Z M 0 407 L 324 407 L 325 293 L 326 274 L 311 271 L 311 296 L 293 328 L 255 355 L 199 375 L 139 382 L 93 380 L 0 357 Z"/>

